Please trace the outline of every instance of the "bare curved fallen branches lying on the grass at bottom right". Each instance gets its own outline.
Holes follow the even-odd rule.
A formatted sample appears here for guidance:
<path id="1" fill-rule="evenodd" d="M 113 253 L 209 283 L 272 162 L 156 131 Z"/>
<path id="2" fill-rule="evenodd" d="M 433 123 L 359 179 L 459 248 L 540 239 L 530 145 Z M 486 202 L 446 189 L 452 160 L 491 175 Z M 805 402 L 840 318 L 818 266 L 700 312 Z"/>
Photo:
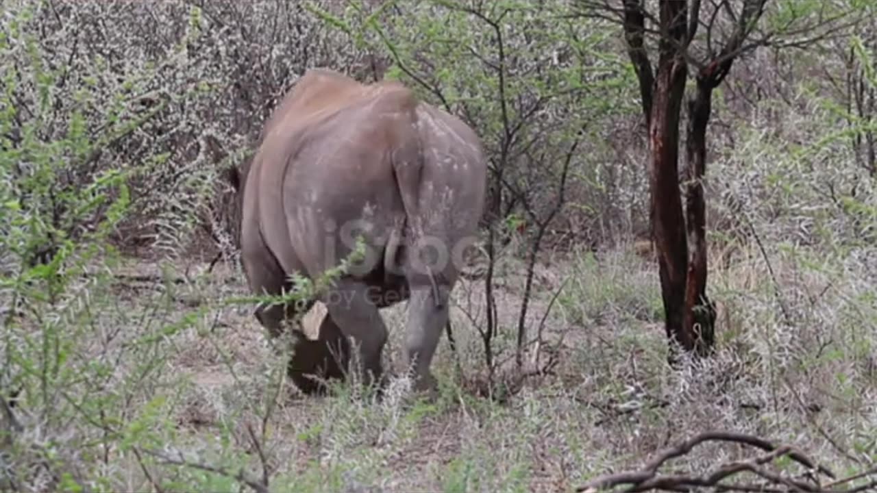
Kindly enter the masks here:
<path id="1" fill-rule="evenodd" d="M 708 475 L 658 474 L 658 469 L 664 465 L 665 462 L 688 454 L 694 447 L 708 441 L 738 443 L 749 447 L 759 448 L 765 451 L 766 454 L 761 454 L 748 461 L 734 461 L 723 464 Z M 781 475 L 777 475 L 762 468 L 766 463 L 774 461 L 781 456 L 788 456 L 789 459 L 798 462 L 805 468 L 816 470 L 823 475 L 827 475 L 831 479 L 835 479 L 835 475 L 831 470 L 817 465 L 816 462 L 810 460 L 806 455 L 796 452 L 791 446 L 776 446 L 765 439 L 759 439 L 742 433 L 704 432 L 691 439 L 687 439 L 674 447 L 664 449 L 664 451 L 657 454 L 657 456 L 651 461 L 646 462 L 645 467 L 638 471 L 601 475 L 579 487 L 576 491 L 594 493 L 601 489 L 610 489 L 620 485 L 630 485 L 629 488 L 624 489 L 624 491 L 630 493 L 652 489 L 665 491 L 692 491 L 697 488 L 713 488 L 721 491 L 830 491 L 815 484 L 781 477 Z M 768 485 L 745 486 L 721 483 L 724 479 L 731 475 L 737 475 L 740 472 L 750 472 L 754 475 L 758 475 L 764 479 Z M 839 482 L 836 482 L 835 484 L 839 484 Z M 770 485 L 780 488 L 771 488 Z"/>

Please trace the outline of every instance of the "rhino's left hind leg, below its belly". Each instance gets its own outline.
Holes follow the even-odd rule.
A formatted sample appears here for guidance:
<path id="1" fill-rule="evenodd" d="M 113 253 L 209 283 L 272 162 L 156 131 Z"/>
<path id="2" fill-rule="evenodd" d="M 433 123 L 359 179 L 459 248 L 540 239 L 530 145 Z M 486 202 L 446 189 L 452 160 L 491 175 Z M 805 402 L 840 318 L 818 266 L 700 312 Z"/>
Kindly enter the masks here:
<path id="1" fill-rule="evenodd" d="M 362 381 L 380 382 L 381 351 L 388 332 L 381 313 L 370 299 L 367 284 L 353 279 L 340 280 L 324 295 L 324 304 L 345 338 L 353 339 L 358 347 L 356 362 Z"/>

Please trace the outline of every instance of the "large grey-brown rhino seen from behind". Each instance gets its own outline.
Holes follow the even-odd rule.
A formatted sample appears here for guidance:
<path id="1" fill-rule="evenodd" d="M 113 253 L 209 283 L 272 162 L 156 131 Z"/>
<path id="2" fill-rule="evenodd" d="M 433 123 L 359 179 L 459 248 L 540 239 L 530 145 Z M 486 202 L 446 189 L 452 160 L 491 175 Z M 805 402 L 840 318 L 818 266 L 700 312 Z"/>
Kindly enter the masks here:
<path id="1" fill-rule="evenodd" d="M 358 235 L 367 246 L 364 261 L 320 298 L 328 313 L 319 344 L 300 340 L 296 348 L 303 354 L 293 357 L 296 382 L 311 361 L 324 359 L 317 352 L 325 342 L 341 344 L 346 360 L 349 338 L 366 381 L 379 377 L 388 334 L 378 309 L 407 300 L 405 362 L 417 389 L 433 385 L 430 362 L 462 252 L 474 241 L 486 179 L 474 131 L 403 85 L 364 85 L 325 69 L 296 82 L 253 160 L 232 176 L 250 289 L 279 294 L 292 273 L 314 278 L 337 266 Z M 284 316 L 307 308 L 260 306 L 255 316 L 276 336 Z M 337 367 L 329 373 L 340 375 Z"/>

